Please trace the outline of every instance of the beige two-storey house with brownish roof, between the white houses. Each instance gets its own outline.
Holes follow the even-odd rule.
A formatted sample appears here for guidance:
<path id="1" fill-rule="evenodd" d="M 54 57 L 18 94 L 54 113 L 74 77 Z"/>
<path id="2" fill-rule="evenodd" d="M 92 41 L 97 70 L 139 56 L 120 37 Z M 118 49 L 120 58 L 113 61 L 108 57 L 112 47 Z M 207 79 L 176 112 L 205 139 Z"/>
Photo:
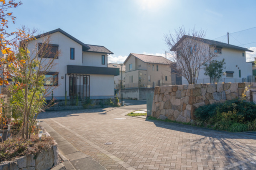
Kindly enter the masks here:
<path id="1" fill-rule="evenodd" d="M 125 59 L 125 88 L 154 88 L 172 85 L 171 64 L 161 56 L 131 53 Z"/>

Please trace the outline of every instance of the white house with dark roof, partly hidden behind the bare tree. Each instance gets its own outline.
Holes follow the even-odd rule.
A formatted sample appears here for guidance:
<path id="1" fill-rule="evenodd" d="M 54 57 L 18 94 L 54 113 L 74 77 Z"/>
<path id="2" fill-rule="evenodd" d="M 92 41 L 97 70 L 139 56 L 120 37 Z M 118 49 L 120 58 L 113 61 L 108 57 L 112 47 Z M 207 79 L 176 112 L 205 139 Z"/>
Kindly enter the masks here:
<path id="1" fill-rule="evenodd" d="M 208 49 L 214 47 L 214 53 L 217 57 L 213 59 L 221 61 L 225 59 L 225 65 L 223 69 L 223 76 L 219 82 L 247 82 L 252 76 L 252 64 L 246 62 L 246 51 L 253 52 L 247 48 L 242 48 L 236 45 L 231 45 L 223 42 L 207 40 L 204 38 L 191 37 L 184 35 L 170 51 L 175 51 L 178 54 L 179 45 L 184 40 L 196 40 L 204 45 L 207 45 Z M 210 78 L 204 75 L 204 69 L 201 68 L 198 74 L 197 84 L 210 83 Z M 187 80 L 182 77 L 182 84 L 188 84 Z"/>

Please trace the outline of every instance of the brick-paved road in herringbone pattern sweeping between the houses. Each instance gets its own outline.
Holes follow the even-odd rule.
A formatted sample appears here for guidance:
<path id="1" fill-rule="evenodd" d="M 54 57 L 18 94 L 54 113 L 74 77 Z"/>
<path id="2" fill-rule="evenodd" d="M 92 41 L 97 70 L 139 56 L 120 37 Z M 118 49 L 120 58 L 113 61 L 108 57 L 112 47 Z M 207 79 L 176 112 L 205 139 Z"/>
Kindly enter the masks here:
<path id="1" fill-rule="evenodd" d="M 49 111 L 39 119 L 108 170 L 255 168 L 256 136 L 124 116 L 128 107 Z"/>

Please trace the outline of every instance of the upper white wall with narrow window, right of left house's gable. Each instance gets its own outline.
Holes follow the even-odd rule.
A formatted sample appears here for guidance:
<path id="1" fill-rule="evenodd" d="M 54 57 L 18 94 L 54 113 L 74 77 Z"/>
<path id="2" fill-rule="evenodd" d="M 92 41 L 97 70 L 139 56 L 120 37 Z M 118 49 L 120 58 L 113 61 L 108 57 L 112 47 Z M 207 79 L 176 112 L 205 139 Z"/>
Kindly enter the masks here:
<path id="1" fill-rule="evenodd" d="M 105 64 L 102 64 L 102 55 L 105 55 Z M 80 65 L 94 67 L 108 67 L 108 54 L 83 51 L 83 61 Z"/>

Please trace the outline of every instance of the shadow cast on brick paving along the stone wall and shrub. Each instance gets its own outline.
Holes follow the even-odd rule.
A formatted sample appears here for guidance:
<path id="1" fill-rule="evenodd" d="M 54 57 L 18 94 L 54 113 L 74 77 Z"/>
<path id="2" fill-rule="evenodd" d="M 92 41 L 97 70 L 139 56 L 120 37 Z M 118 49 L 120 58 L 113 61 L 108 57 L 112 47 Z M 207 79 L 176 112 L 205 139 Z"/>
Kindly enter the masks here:
<path id="1" fill-rule="evenodd" d="M 240 161 L 239 159 L 236 159 L 238 157 L 244 158 L 244 159 L 248 157 L 248 154 L 246 152 L 244 153 L 237 152 L 237 149 L 250 150 L 251 153 L 256 152 L 256 148 L 253 146 L 250 146 L 250 142 L 248 142 L 249 145 L 246 145 L 245 143 L 241 143 L 238 141 L 239 139 L 255 140 L 256 139 L 255 135 L 248 135 L 243 133 L 230 133 L 230 132 L 219 131 L 219 130 L 210 130 L 202 127 L 194 127 L 190 125 L 162 122 L 158 120 L 146 119 L 145 121 L 153 122 L 156 125 L 156 127 L 162 127 L 168 130 L 175 130 L 179 132 L 200 135 L 202 136 L 201 139 L 194 139 L 189 142 L 190 146 L 195 147 L 195 149 L 194 150 L 192 149 L 191 151 L 200 152 L 198 150 L 198 146 L 202 144 L 204 145 L 209 144 L 209 147 L 207 146 L 204 146 L 204 147 L 207 147 L 208 150 L 211 150 L 213 152 L 219 152 L 220 154 L 226 156 L 227 161 L 230 161 L 230 162 Z M 183 139 L 183 140 L 187 141 L 187 139 Z M 182 143 L 184 141 L 182 141 Z"/>

